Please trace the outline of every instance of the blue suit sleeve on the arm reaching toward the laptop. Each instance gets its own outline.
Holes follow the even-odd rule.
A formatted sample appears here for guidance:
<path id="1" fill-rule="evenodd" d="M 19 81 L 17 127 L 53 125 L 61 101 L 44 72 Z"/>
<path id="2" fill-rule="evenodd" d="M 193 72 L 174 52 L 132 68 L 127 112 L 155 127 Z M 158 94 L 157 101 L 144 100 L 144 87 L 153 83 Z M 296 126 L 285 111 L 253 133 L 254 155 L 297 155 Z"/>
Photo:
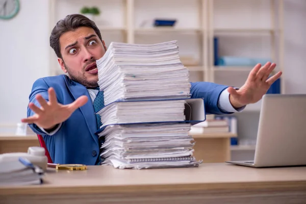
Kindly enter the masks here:
<path id="1" fill-rule="evenodd" d="M 206 114 L 230 114 L 232 112 L 224 112 L 218 106 L 219 98 L 223 90 L 228 86 L 219 85 L 212 82 L 191 82 L 191 97 L 204 98 Z"/>

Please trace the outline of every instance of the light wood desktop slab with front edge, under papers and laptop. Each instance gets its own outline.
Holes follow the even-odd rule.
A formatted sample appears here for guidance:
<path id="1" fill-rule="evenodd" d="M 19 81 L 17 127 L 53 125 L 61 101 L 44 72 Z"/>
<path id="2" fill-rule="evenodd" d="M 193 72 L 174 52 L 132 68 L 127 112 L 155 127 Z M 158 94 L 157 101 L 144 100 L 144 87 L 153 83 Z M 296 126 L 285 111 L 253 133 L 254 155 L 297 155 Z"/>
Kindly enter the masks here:
<path id="1" fill-rule="evenodd" d="M 251 168 L 226 163 L 197 168 L 115 169 L 89 166 L 86 171 L 48 169 L 43 185 L 1 187 L 0 195 L 124 193 L 180 190 L 302 188 L 306 167 Z"/>

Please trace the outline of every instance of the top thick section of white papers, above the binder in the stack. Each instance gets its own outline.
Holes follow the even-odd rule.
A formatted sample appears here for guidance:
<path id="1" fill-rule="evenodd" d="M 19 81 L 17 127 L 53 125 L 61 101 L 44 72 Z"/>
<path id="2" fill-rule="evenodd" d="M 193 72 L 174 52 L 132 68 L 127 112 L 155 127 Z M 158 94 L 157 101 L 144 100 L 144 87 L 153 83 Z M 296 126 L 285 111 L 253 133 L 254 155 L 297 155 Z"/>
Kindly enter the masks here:
<path id="1" fill-rule="evenodd" d="M 105 105 L 118 99 L 190 97 L 189 72 L 180 61 L 176 41 L 112 42 L 96 63 Z"/>

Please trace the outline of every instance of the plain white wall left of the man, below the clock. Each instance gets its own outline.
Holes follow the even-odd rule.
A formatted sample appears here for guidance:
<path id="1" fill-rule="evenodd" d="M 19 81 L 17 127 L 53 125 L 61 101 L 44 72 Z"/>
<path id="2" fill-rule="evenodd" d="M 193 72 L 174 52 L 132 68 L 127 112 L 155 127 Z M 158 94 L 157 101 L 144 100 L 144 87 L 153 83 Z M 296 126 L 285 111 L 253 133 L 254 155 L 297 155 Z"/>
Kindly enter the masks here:
<path id="1" fill-rule="evenodd" d="M 48 1 L 20 0 L 20 12 L 0 19 L 0 124 L 27 116 L 33 82 L 48 74 Z"/>

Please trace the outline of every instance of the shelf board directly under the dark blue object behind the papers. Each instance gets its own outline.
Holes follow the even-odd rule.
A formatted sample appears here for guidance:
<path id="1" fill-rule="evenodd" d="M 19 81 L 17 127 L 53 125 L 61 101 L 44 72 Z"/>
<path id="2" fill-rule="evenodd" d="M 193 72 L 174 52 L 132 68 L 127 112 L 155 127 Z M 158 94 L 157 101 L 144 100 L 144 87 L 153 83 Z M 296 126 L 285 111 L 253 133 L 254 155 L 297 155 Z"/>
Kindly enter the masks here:
<path id="1" fill-rule="evenodd" d="M 154 28 L 137 28 L 135 32 L 137 33 L 152 33 L 152 32 L 192 32 L 200 33 L 202 29 L 199 28 L 175 28 L 175 27 L 154 27 Z"/>

